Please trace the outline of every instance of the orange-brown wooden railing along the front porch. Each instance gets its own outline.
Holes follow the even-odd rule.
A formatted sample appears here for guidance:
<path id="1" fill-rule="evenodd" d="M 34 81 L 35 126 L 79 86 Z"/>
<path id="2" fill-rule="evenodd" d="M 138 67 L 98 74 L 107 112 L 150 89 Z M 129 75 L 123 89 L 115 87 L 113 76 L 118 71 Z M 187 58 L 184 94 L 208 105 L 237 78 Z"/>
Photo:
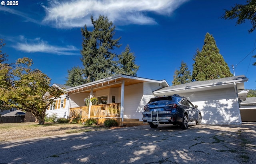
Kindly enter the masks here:
<path id="1" fill-rule="evenodd" d="M 121 103 L 92 105 L 91 118 L 120 117 Z M 89 118 L 89 106 L 70 108 L 71 118 Z"/>

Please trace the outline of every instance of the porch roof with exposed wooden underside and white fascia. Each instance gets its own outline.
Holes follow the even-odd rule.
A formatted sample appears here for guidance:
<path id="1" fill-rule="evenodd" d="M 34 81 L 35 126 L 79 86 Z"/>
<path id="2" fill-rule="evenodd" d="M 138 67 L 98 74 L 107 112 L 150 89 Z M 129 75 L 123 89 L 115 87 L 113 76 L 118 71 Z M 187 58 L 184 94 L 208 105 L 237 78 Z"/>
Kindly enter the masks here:
<path id="1" fill-rule="evenodd" d="M 96 89 L 109 87 L 109 86 L 119 87 L 119 86 L 121 86 L 122 82 L 124 82 L 125 86 L 131 85 L 131 84 L 138 84 L 141 82 L 154 82 L 154 83 L 159 83 L 164 87 L 169 86 L 169 84 L 166 82 L 166 80 L 152 80 L 152 79 L 148 79 L 148 78 L 140 78 L 140 77 L 125 75 L 125 74 L 118 74 L 115 76 L 110 76 L 107 78 L 96 80 L 94 82 L 82 84 L 80 86 L 67 88 L 66 92 L 73 93 L 73 92 L 82 92 L 85 90 L 90 91 L 91 88 L 94 88 L 94 90 L 96 90 Z"/>

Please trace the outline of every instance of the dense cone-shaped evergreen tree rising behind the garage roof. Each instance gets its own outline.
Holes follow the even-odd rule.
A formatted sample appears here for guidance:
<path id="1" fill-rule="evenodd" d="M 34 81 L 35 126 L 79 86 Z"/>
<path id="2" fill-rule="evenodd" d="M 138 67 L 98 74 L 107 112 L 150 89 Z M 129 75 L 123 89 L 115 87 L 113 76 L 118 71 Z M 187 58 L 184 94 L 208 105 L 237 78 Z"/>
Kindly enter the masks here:
<path id="1" fill-rule="evenodd" d="M 193 59 L 192 80 L 203 81 L 233 76 L 224 61 L 214 37 L 206 33 L 202 51 L 197 51 Z"/>

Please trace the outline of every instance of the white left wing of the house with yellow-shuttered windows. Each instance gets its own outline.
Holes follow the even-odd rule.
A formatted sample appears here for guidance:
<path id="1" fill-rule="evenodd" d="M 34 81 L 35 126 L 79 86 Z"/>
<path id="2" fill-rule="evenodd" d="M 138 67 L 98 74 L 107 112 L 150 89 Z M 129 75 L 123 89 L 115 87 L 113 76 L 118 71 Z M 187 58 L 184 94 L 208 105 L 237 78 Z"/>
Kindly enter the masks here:
<path id="1" fill-rule="evenodd" d="M 55 86 L 62 90 L 71 88 L 70 86 L 65 86 L 62 84 L 55 84 L 55 83 L 52 86 Z M 69 104 L 70 104 L 70 98 L 65 94 L 61 95 L 60 98 L 57 98 L 56 101 L 48 107 L 48 110 L 46 110 L 47 117 L 56 113 L 60 118 L 67 118 Z"/>

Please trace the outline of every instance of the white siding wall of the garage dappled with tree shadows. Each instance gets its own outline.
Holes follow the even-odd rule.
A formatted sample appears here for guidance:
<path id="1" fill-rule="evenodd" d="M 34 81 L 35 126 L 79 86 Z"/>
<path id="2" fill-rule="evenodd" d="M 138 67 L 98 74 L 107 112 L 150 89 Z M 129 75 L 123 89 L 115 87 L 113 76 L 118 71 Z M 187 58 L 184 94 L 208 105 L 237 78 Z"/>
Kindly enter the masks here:
<path id="1" fill-rule="evenodd" d="M 177 93 L 178 94 L 178 93 Z M 202 113 L 202 123 L 240 125 L 240 111 L 234 88 L 180 94 Z"/>

